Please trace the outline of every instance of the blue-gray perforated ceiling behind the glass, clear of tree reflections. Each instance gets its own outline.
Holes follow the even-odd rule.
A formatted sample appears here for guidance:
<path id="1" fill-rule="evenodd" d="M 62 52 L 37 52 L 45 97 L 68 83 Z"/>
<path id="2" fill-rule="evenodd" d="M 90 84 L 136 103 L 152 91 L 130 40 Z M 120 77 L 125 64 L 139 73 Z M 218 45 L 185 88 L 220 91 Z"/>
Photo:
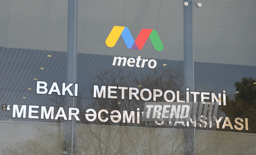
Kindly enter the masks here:
<path id="1" fill-rule="evenodd" d="M 48 89 L 50 89 L 52 82 L 57 82 L 61 86 L 62 82 L 66 82 L 67 53 L 3 47 L 0 47 L 0 51 L 0 69 L 2 71 L 2 74 L 0 74 L 1 107 L 3 104 L 50 105 L 50 96 L 35 94 L 36 80 L 34 79 L 46 81 L 49 85 Z M 51 57 L 47 57 L 48 55 L 51 55 Z M 79 89 L 92 87 L 92 81 L 96 79 L 96 70 L 112 69 L 113 57 L 79 53 L 77 59 Z M 157 61 L 157 70 L 164 69 L 164 67 L 176 69 L 183 66 L 183 61 L 155 60 Z M 166 66 L 163 66 L 163 64 L 166 64 Z M 216 88 L 214 90 L 216 93 L 220 93 L 224 89 L 227 90 L 227 94 L 235 94 L 235 82 L 240 81 L 242 77 L 256 79 L 255 66 L 204 62 L 195 62 L 194 66 L 195 89 L 197 91 L 211 91 Z M 44 69 L 40 69 L 42 67 Z M 144 68 L 128 67 L 127 65 L 119 67 L 124 69 L 124 75 L 130 76 L 147 74 L 150 71 L 147 65 Z M 0 114 L 0 120 L 12 119 L 12 112 L 10 111 L 1 111 Z M 29 119 L 26 119 L 26 121 L 29 121 Z"/>

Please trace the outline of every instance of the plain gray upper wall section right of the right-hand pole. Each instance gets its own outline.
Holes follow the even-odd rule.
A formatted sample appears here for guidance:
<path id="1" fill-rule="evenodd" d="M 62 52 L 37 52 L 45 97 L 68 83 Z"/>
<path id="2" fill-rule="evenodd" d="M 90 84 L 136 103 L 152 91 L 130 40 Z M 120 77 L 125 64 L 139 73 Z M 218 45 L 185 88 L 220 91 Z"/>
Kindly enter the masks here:
<path id="1" fill-rule="evenodd" d="M 194 12 L 195 61 L 255 66 L 256 4 L 200 2 Z"/>

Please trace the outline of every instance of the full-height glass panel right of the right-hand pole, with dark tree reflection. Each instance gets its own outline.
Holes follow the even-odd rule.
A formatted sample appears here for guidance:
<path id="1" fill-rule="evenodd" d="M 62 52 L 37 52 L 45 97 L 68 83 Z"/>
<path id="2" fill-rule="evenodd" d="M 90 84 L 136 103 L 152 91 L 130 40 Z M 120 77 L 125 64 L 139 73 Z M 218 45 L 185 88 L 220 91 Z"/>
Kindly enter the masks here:
<path id="1" fill-rule="evenodd" d="M 195 90 L 221 93 L 221 105 L 219 123 L 196 130 L 197 154 L 255 154 L 256 4 L 201 3 L 194 6 Z"/>

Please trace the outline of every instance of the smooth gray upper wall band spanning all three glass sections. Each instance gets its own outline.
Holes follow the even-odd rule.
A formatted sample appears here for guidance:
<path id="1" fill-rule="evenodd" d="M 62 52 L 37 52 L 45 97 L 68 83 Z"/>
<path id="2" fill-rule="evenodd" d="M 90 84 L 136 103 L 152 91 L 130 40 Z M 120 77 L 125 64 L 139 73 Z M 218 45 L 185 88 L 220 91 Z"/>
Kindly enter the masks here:
<path id="1" fill-rule="evenodd" d="M 200 2 L 194 5 L 194 60 L 255 66 L 256 4 Z M 78 0 L 78 52 L 183 61 L 183 7 L 180 0 Z M 0 0 L 0 10 L 0 46 L 67 51 L 67 1 Z M 115 25 L 128 27 L 134 39 L 143 28 L 156 29 L 163 51 L 149 39 L 142 50 L 127 49 L 121 37 L 107 47 Z"/>

